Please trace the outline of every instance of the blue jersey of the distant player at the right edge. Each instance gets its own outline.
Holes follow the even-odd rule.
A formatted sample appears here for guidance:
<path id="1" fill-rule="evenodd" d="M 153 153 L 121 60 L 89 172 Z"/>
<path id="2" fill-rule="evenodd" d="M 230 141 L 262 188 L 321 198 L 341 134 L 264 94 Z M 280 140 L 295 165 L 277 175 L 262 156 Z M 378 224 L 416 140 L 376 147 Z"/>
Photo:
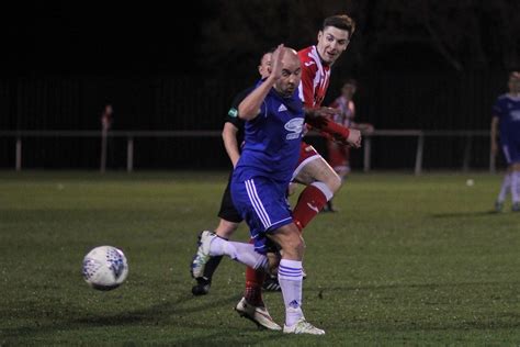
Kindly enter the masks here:
<path id="1" fill-rule="evenodd" d="M 502 143 L 520 138 L 520 98 L 509 94 L 498 97 L 493 107 L 493 114 L 499 119 Z"/>

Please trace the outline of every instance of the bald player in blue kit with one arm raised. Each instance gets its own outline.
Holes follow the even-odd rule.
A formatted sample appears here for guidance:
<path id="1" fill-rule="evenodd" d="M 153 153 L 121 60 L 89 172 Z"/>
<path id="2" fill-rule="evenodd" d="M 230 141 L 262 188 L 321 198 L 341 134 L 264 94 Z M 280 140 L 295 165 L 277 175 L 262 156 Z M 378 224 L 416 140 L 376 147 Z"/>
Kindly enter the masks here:
<path id="1" fill-rule="evenodd" d="M 304 242 L 293 223 L 285 192 L 299 157 L 304 110 L 298 98 L 301 66 L 294 49 L 280 45 L 273 54 L 271 75 L 240 103 L 246 124 L 246 144 L 231 181 L 233 201 L 247 221 L 255 245 L 228 242 L 203 232 L 192 265 L 194 277 L 204 271 L 212 256 L 226 255 L 253 269 L 278 275 L 285 303 L 284 333 L 323 335 L 302 311 L 302 260 Z M 282 249 L 280 262 L 270 264 L 268 248 Z"/>

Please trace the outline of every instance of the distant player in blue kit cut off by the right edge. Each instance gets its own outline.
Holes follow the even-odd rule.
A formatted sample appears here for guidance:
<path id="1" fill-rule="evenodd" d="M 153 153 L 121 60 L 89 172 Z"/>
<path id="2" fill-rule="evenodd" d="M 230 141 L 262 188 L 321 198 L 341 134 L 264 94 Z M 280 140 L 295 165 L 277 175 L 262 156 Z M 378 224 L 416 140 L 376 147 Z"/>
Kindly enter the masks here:
<path id="1" fill-rule="evenodd" d="M 509 75 L 509 93 L 498 97 L 493 107 L 491 152 L 498 153 L 497 135 L 508 164 L 508 169 L 495 203 L 500 212 L 508 191 L 511 192 L 513 212 L 520 212 L 520 72 Z M 500 131 L 498 132 L 498 127 Z"/>

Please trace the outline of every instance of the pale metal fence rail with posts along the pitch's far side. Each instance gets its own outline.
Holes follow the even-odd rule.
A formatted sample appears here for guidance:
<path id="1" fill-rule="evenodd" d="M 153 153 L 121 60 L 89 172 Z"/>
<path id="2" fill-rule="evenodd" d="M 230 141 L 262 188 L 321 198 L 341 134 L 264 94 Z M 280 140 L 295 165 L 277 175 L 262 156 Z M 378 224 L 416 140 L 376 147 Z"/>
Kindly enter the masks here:
<path id="1" fill-rule="evenodd" d="M 22 143 L 26 137 L 98 137 L 106 143 L 106 137 L 125 137 L 126 138 L 126 170 L 134 170 L 134 138 L 137 137 L 221 137 L 221 131 L 111 131 L 103 133 L 102 131 L 0 131 L 0 137 L 12 137 L 15 139 L 15 163 L 16 171 L 22 170 Z M 310 133 L 309 136 L 317 136 Z M 472 155 L 473 137 L 489 137 L 489 131 L 421 131 L 421 130 L 377 130 L 370 135 L 363 136 L 363 170 L 371 170 L 371 152 L 372 139 L 374 137 L 417 137 L 415 175 L 422 171 L 422 158 L 425 152 L 426 137 L 464 137 L 464 155 L 462 168 L 470 168 L 470 159 Z M 106 164 L 106 146 L 101 146 L 100 170 L 104 171 Z M 495 172 L 495 156 L 489 153 L 489 171 Z"/>

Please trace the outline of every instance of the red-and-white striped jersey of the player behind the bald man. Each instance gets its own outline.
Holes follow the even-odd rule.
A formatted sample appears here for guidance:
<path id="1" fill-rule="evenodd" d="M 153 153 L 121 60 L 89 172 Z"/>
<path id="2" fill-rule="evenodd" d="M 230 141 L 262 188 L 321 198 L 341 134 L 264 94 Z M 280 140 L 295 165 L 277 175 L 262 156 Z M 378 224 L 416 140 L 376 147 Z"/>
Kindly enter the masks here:
<path id="1" fill-rule="evenodd" d="M 302 64 L 299 99 L 306 108 L 318 108 L 329 87 L 330 66 L 321 64 L 316 46 L 299 51 L 298 56 Z"/>

